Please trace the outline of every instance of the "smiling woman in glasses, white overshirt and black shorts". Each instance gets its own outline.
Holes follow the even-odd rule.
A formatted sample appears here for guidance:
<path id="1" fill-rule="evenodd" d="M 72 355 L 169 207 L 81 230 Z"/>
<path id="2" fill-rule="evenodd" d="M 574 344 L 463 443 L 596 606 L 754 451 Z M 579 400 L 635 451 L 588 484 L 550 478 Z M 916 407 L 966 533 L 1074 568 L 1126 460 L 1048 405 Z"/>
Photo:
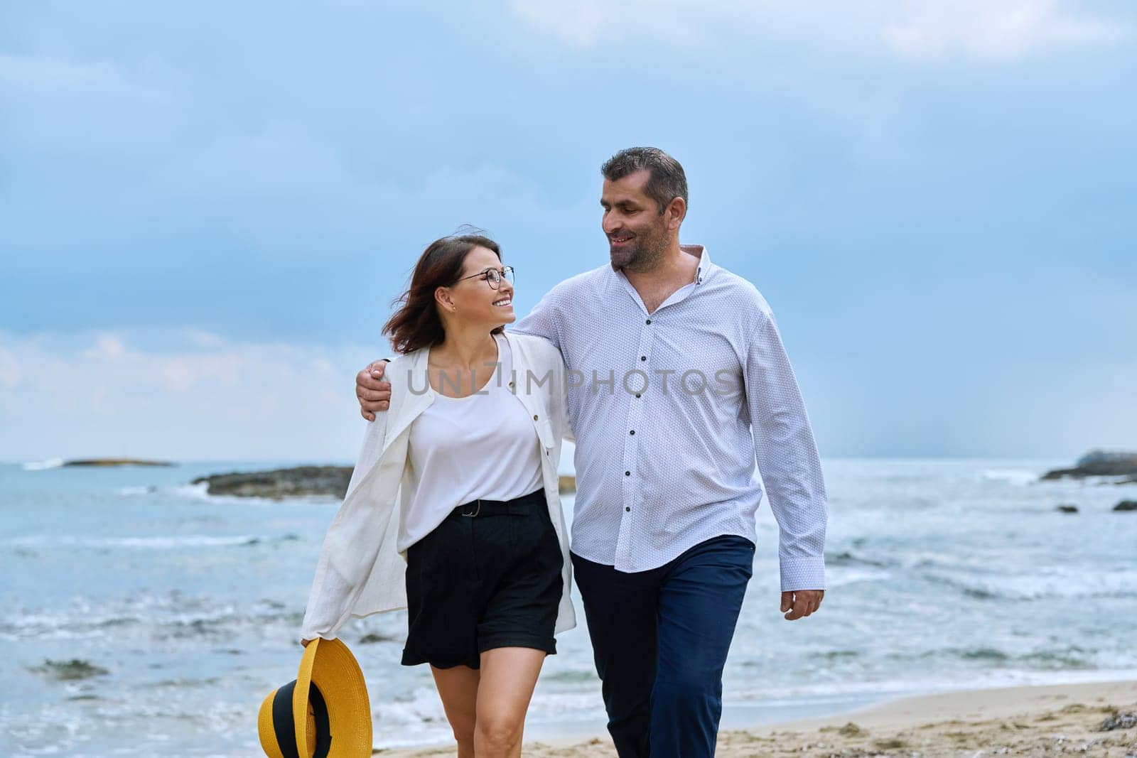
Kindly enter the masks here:
<path id="1" fill-rule="evenodd" d="M 393 402 L 367 425 L 301 627 L 307 644 L 406 607 L 402 664 L 430 664 L 462 758 L 521 755 L 545 656 L 575 625 L 557 490 L 564 361 L 505 334 L 512 301 L 490 239 L 442 238 L 418 259 L 383 327 L 400 353 Z"/>

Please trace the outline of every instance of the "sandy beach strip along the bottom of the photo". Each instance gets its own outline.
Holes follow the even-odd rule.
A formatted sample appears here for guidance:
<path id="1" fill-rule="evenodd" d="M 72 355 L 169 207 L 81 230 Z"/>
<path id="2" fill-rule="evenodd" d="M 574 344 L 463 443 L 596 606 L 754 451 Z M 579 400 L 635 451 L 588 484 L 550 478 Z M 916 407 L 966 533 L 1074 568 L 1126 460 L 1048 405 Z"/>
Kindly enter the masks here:
<path id="1" fill-rule="evenodd" d="M 717 755 L 1129 758 L 1137 757 L 1135 713 L 1137 681 L 951 692 L 901 698 L 828 718 L 723 732 Z M 1121 718 L 1114 718 L 1119 714 Z M 1121 725 L 1101 731 L 1111 718 Z M 409 758 L 454 751 L 376 750 L 375 755 Z M 615 751 L 606 735 L 598 735 L 575 743 L 526 743 L 524 755 L 599 758 Z"/>

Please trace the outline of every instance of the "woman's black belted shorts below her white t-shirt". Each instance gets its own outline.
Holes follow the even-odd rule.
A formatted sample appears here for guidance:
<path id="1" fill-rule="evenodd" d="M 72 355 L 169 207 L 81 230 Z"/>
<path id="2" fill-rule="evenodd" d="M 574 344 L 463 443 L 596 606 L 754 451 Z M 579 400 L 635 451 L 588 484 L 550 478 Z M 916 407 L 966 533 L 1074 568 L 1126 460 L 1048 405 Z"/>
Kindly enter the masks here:
<path id="1" fill-rule="evenodd" d="M 479 668 L 493 648 L 556 653 L 563 567 L 543 489 L 459 506 L 407 550 L 402 665 Z"/>

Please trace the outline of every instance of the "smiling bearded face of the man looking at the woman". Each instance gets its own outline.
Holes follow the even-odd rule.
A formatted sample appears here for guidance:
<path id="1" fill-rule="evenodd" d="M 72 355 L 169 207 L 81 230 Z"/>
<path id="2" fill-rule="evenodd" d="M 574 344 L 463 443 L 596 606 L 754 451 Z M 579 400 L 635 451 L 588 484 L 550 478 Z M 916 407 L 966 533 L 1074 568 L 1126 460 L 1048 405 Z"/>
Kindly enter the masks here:
<path id="1" fill-rule="evenodd" d="M 604 180 L 600 226 L 608 238 L 613 268 L 650 270 L 667 249 L 669 214 L 659 214 L 655 200 L 644 191 L 649 175 L 645 169 L 614 182 Z"/>

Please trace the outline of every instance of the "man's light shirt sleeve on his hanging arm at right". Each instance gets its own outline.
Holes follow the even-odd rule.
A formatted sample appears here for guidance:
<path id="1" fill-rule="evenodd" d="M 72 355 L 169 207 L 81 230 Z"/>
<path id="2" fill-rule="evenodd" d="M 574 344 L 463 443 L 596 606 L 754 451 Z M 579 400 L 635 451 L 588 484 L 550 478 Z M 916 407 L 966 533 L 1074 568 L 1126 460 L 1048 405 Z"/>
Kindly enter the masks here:
<path id="1" fill-rule="evenodd" d="M 746 402 L 758 472 L 778 522 L 782 592 L 825 589 L 828 505 L 818 445 L 773 315 L 746 360 Z"/>

